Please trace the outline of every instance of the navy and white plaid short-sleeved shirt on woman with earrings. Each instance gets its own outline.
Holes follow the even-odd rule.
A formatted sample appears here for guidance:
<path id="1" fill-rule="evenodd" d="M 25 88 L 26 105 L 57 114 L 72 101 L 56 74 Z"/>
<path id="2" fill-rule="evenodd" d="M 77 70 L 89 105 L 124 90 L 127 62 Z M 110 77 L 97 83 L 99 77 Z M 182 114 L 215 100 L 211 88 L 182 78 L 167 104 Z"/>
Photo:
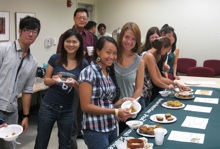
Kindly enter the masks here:
<path id="1" fill-rule="evenodd" d="M 106 78 L 102 72 L 101 66 L 91 62 L 79 76 L 79 83 L 88 82 L 92 85 L 91 104 L 102 108 L 113 109 L 113 99 L 115 94 L 115 85 L 108 75 Z M 98 132 L 109 132 L 116 129 L 116 118 L 114 114 L 94 115 L 83 113 L 83 129 L 90 129 Z"/>

